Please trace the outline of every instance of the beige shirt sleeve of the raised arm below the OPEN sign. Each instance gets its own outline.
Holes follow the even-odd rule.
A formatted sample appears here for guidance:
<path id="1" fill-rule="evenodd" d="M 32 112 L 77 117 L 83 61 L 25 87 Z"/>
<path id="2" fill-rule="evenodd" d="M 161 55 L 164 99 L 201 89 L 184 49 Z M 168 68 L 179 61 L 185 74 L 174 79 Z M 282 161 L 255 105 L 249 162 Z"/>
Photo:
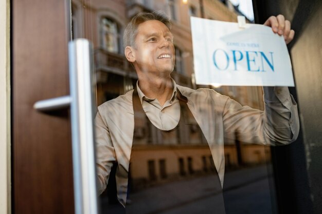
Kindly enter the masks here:
<path id="1" fill-rule="evenodd" d="M 264 111 L 227 98 L 223 109 L 226 139 L 245 143 L 285 145 L 299 132 L 297 104 L 288 87 L 263 87 Z"/>

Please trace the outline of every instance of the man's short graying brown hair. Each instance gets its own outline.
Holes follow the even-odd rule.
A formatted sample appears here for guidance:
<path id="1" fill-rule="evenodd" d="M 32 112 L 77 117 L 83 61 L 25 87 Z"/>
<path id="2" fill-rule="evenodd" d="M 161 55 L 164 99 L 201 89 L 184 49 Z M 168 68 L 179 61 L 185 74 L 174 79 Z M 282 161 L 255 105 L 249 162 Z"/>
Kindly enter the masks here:
<path id="1" fill-rule="evenodd" d="M 129 22 L 126 29 L 124 30 L 124 34 L 123 34 L 124 48 L 127 46 L 135 47 L 135 37 L 137 35 L 139 24 L 150 20 L 157 20 L 162 22 L 171 31 L 170 18 L 165 14 L 165 12 L 162 12 L 162 11 L 153 11 L 151 13 L 140 12 L 132 18 L 131 22 Z"/>

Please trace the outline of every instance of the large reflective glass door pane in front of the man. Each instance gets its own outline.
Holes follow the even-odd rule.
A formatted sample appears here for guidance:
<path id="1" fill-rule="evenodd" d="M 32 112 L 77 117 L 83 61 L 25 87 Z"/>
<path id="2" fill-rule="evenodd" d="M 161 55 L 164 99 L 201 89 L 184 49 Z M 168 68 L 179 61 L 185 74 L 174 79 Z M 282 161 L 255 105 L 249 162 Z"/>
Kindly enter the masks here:
<path id="1" fill-rule="evenodd" d="M 102 213 L 122 213 L 124 206 L 127 213 L 277 213 L 272 141 L 261 135 L 263 123 L 276 121 L 274 112 L 263 119 L 263 88 L 196 85 L 193 77 L 190 16 L 237 22 L 242 13 L 253 23 L 253 8 L 244 2 L 71 1 L 73 37 L 88 38 L 95 48 Z M 162 23 L 145 28 L 145 37 L 134 30 L 124 53 L 132 17 L 154 10 L 171 18 L 171 33 Z M 159 32 L 170 39 L 158 44 Z M 153 78 L 168 65 L 171 79 L 159 79 L 171 80 L 171 91 L 156 98 L 165 88 L 151 83 L 160 83 Z"/>

